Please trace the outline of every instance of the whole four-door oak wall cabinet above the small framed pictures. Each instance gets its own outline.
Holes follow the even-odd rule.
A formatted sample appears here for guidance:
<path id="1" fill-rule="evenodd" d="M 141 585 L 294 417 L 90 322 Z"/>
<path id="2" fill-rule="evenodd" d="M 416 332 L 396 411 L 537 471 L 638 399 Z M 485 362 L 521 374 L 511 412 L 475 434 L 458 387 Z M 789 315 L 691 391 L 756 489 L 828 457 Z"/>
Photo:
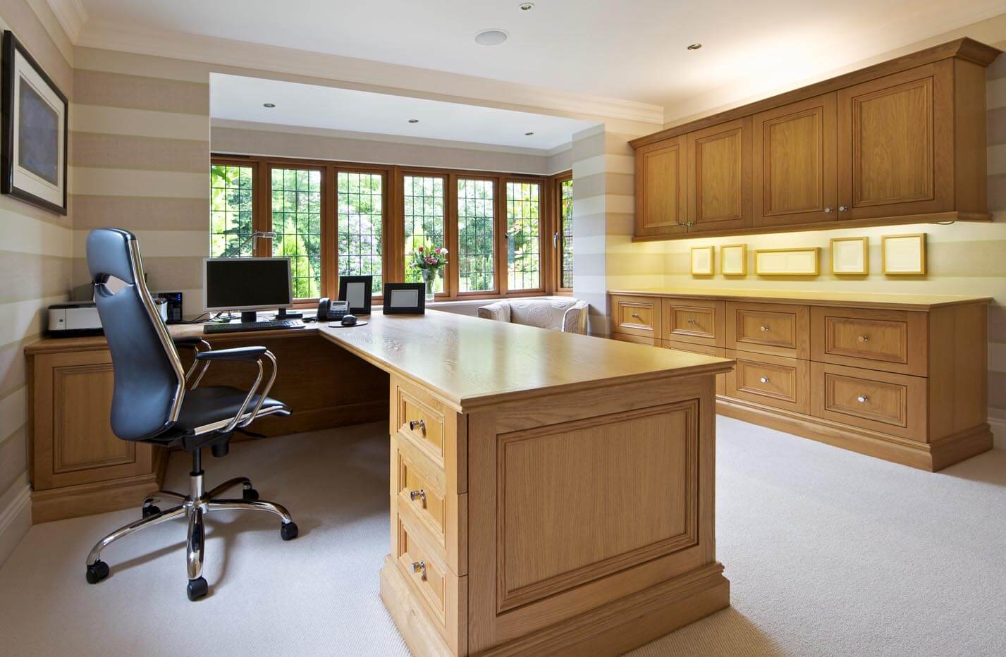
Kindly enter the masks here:
<path id="1" fill-rule="evenodd" d="M 958 39 L 634 140 L 635 238 L 989 220 L 999 53 Z"/>

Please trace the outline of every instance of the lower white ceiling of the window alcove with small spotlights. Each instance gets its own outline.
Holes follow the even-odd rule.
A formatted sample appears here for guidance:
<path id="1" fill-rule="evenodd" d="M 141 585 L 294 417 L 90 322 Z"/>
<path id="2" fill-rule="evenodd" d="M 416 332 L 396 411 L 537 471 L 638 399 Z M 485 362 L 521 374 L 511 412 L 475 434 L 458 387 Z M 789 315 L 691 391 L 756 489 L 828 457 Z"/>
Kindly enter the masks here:
<path id="1" fill-rule="evenodd" d="M 475 105 L 211 73 L 209 114 L 253 121 L 549 150 L 592 123 Z M 266 108 L 272 103 L 275 108 Z M 418 119 L 410 124 L 409 119 Z M 525 133 L 533 132 L 533 135 Z"/>

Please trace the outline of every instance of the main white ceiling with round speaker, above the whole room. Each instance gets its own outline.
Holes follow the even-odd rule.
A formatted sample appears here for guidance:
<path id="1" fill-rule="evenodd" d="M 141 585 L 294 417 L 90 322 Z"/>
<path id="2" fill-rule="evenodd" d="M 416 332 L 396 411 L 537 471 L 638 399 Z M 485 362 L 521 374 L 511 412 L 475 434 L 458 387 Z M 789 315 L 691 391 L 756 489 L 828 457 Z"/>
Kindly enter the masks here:
<path id="1" fill-rule="evenodd" d="M 82 0 L 92 19 L 668 107 L 805 80 L 1003 13 L 1002 0 Z M 475 43 L 500 28 L 502 45 Z M 85 25 L 87 31 L 87 25 Z M 701 42 L 700 50 L 686 46 Z"/>

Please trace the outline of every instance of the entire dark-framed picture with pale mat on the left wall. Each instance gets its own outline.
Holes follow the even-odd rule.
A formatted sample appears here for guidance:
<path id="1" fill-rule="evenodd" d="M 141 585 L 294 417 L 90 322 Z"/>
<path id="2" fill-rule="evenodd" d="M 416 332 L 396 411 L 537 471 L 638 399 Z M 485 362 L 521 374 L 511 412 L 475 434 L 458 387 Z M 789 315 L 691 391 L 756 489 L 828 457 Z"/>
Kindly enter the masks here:
<path id="1" fill-rule="evenodd" d="M 2 56 L 0 192 L 66 214 L 66 97 L 10 30 Z"/>

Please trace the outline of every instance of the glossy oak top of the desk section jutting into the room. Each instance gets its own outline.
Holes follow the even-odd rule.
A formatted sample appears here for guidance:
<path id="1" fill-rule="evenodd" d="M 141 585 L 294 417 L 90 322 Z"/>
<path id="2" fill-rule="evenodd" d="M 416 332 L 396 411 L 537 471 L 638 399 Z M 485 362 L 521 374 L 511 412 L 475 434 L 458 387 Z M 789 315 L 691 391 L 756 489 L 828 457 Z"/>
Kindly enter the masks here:
<path id="1" fill-rule="evenodd" d="M 428 310 L 374 313 L 365 326 L 318 328 L 381 369 L 459 409 L 539 394 L 729 370 L 732 360 Z"/>

